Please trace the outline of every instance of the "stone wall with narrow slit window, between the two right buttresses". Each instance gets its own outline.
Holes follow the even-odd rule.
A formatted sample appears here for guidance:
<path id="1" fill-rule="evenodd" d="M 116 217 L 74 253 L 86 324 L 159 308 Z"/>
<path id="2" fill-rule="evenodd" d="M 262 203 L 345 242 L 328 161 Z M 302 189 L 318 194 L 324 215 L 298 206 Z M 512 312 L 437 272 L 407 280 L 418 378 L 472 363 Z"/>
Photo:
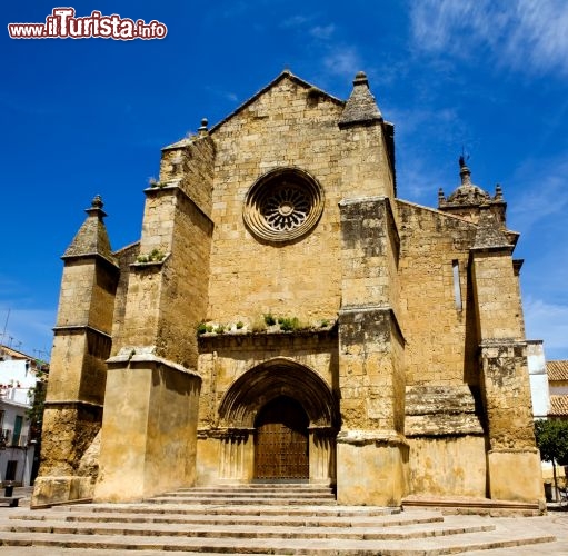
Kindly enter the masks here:
<path id="1" fill-rule="evenodd" d="M 476 227 L 406 201 L 395 206 L 407 384 L 460 384 L 466 377 L 476 381 L 476 316 L 467 304 Z M 459 265 L 461 310 L 454 294 L 454 260 Z"/>

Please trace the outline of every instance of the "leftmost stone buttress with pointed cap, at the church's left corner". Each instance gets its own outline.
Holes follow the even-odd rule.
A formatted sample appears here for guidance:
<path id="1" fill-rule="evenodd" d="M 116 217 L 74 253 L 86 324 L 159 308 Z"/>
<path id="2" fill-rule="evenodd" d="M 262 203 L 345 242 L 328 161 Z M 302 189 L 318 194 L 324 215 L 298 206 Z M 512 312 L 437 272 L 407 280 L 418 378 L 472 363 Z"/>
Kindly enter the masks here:
<path id="1" fill-rule="evenodd" d="M 101 427 L 119 269 L 96 197 L 66 250 L 32 505 L 90 498 L 81 458 Z"/>

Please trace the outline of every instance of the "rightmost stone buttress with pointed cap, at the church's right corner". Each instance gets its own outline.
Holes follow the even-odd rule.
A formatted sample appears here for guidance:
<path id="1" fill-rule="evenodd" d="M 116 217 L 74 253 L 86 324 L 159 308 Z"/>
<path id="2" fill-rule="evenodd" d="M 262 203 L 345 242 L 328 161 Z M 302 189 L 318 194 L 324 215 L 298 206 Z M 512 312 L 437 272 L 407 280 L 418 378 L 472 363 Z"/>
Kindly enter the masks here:
<path id="1" fill-rule="evenodd" d="M 488 490 L 496 499 L 534 502 L 544 498 L 542 481 L 538 480 L 519 265 L 511 258 L 512 249 L 499 215 L 489 203 L 482 205 L 470 265 L 489 436 Z"/>

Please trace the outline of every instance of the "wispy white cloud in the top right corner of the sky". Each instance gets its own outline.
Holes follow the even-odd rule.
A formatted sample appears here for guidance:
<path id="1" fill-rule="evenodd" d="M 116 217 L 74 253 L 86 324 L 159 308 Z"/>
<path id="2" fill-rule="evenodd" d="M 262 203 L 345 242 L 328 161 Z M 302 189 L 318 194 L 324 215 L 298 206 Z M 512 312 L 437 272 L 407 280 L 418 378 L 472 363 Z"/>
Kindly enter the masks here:
<path id="1" fill-rule="evenodd" d="M 565 0 L 420 0 L 411 4 L 416 47 L 531 73 L 568 73 Z"/>

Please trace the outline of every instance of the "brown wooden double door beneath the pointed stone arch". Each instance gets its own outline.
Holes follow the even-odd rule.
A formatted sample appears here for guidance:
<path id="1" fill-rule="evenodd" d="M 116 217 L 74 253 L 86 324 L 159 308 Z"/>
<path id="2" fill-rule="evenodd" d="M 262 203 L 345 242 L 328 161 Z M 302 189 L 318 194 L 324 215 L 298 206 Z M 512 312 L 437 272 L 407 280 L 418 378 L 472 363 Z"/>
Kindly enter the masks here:
<path id="1" fill-rule="evenodd" d="M 255 423 L 255 478 L 308 479 L 308 425 L 295 399 L 280 396 L 269 401 Z"/>

